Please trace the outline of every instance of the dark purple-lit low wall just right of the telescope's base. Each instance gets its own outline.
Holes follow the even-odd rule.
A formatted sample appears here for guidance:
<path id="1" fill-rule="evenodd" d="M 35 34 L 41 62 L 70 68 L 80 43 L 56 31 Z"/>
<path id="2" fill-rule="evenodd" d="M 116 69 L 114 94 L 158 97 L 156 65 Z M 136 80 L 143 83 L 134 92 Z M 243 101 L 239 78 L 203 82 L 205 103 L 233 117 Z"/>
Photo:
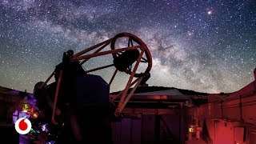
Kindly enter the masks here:
<path id="1" fill-rule="evenodd" d="M 114 144 L 184 143 L 184 122 L 179 114 L 142 114 L 138 118 L 123 118 L 122 122 L 112 123 L 112 139 Z"/>

